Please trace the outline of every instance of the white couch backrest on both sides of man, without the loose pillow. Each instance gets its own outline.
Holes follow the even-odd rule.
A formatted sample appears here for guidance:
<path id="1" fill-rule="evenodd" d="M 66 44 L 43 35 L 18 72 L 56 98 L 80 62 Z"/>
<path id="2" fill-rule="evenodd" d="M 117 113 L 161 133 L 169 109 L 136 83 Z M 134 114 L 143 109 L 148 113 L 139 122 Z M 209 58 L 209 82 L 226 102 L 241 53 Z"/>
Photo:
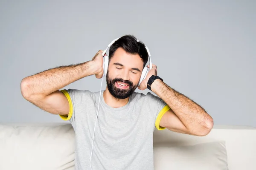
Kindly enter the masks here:
<path id="1" fill-rule="evenodd" d="M 167 129 L 154 131 L 154 146 L 212 141 L 226 142 L 230 170 L 256 167 L 255 127 L 215 125 L 207 136 L 191 136 Z M 73 170 L 74 147 L 75 133 L 69 123 L 0 124 L 0 170 Z"/>

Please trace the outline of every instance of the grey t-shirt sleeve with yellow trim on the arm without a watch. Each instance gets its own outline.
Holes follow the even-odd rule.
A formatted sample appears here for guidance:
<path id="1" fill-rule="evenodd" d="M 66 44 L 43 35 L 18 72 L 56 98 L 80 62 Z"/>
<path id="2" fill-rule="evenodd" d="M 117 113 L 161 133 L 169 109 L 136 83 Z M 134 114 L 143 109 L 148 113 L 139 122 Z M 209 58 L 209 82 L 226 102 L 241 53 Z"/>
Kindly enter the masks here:
<path id="1" fill-rule="evenodd" d="M 76 97 L 76 90 L 64 89 L 64 90 L 61 90 L 61 92 L 67 97 L 70 110 L 69 110 L 68 116 L 66 116 L 66 115 L 59 115 L 59 116 L 61 117 L 61 119 L 65 120 L 65 121 L 69 120 L 72 123 L 75 120 L 74 100 Z"/>

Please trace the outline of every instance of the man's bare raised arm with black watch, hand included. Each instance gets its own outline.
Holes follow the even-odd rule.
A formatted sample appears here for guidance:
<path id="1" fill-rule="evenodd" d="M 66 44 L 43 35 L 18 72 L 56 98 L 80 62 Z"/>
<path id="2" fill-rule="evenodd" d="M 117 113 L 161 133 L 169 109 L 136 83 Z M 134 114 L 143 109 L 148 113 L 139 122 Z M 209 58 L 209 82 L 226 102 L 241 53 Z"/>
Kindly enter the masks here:
<path id="1" fill-rule="evenodd" d="M 151 75 L 157 75 L 157 67 L 149 71 L 147 78 L 140 85 L 139 89 L 147 88 Z M 159 96 L 169 106 L 169 110 L 163 114 L 160 120 L 160 127 L 169 130 L 186 133 L 195 136 L 207 135 L 213 127 L 212 117 L 200 105 L 186 97 L 185 95 L 170 88 L 160 79 L 155 79 L 151 84 L 151 91 Z"/>

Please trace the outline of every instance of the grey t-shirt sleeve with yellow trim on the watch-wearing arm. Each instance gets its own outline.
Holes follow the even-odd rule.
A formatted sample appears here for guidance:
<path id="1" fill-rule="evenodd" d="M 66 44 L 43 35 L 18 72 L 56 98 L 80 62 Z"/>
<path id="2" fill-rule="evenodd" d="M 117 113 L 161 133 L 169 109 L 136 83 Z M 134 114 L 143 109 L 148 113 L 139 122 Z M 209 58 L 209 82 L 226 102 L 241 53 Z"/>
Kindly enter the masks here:
<path id="1" fill-rule="evenodd" d="M 170 107 L 166 104 L 166 102 L 163 101 L 163 99 L 151 94 L 150 92 L 147 93 L 146 97 L 148 108 L 154 117 L 155 127 L 157 128 L 157 130 L 165 129 L 165 127 L 160 126 L 160 120 L 162 119 L 166 111 L 170 109 Z"/>

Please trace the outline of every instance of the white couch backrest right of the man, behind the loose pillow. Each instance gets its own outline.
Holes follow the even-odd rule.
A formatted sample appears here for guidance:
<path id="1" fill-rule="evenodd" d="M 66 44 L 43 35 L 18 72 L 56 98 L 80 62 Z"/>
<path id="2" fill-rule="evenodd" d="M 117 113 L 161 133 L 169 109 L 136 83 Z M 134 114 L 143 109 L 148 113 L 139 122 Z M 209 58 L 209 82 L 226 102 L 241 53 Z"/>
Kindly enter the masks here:
<path id="1" fill-rule="evenodd" d="M 168 143 L 170 146 L 193 145 L 213 141 L 226 142 L 230 170 L 245 170 L 246 167 L 249 169 L 256 167 L 255 127 L 215 125 L 207 136 L 186 135 L 168 129 L 154 131 L 154 146 L 163 143 Z"/>

